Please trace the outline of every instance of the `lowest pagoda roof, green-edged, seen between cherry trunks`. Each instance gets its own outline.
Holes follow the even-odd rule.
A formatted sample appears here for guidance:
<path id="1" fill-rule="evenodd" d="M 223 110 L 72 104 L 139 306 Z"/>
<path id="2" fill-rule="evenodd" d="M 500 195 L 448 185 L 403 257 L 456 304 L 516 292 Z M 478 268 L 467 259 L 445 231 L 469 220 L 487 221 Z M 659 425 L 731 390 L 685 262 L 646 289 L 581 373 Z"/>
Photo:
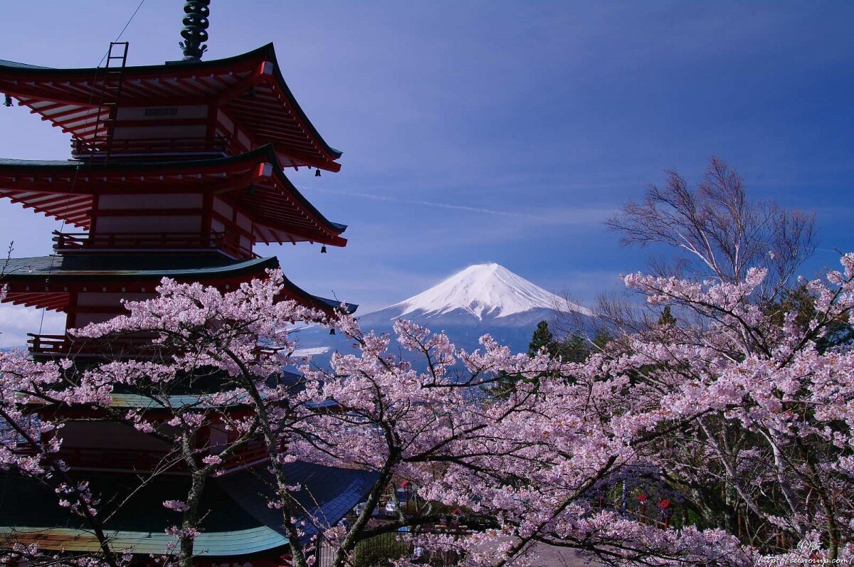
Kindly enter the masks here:
<path id="1" fill-rule="evenodd" d="M 242 471 L 210 478 L 202 492 L 202 531 L 194 552 L 202 557 L 230 557 L 268 552 L 288 544 L 281 526 L 281 511 L 266 506 L 271 488 L 266 471 Z M 377 473 L 296 462 L 285 466 L 294 484 L 301 484 L 295 499 L 306 512 L 303 518 L 319 517 L 335 525 L 365 498 Z M 81 480 L 83 480 L 81 478 Z M 124 500 L 138 479 L 120 475 L 85 477 L 102 501 Z M 164 554 L 174 538 L 165 529 L 180 523 L 180 514 L 163 507 L 164 500 L 186 499 L 189 481 L 184 477 L 161 476 L 130 497 L 104 525 L 114 551 L 133 548 L 137 554 Z M 0 535 L 20 543 L 38 543 L 44 550 L 97 552 L 98 542 L 81 519 L 57 504 L 54 491 L 37 480 L 3 473 L 0 475 Z M 317 533 L 306 523 L 308 539 Z M 7 540 L 8 541 L 8 540 Z"/>

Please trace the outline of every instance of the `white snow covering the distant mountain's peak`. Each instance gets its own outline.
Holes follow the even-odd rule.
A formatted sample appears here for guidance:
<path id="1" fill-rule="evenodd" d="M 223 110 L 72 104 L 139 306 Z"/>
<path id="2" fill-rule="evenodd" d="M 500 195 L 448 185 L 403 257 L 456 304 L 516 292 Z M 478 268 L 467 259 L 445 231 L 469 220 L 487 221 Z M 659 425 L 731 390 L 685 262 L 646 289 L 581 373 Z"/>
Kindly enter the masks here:
<path id="1" fill-rule="evenodd" d="M 389 307 L 400 310 L 396 317 L 416 311 L 441 315 L 461 309 L 477 319 L 485 315 L 497 319 L 541 308 L 592 314 L 587 308 L 531 284 L 495 263 L 469 266 L 423 293 Z"/>

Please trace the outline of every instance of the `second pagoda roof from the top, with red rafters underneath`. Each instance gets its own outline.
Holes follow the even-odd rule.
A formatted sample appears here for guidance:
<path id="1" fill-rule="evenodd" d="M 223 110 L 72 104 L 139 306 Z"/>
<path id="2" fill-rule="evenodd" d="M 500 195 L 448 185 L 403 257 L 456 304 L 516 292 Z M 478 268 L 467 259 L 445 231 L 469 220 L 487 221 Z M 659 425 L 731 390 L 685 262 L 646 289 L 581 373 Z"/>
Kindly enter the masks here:
<path id="1" fill-rule="evenodd" d="M 340 236 L 347 225 L 326 219 L 296 189 L 272 144 L 192 161 L 0 159 L 0 196 L 84 229 L 91 222 L 94 195 L 134 190 L 227 196 L 252 215 L 255 242 L 347 244 Z"/>

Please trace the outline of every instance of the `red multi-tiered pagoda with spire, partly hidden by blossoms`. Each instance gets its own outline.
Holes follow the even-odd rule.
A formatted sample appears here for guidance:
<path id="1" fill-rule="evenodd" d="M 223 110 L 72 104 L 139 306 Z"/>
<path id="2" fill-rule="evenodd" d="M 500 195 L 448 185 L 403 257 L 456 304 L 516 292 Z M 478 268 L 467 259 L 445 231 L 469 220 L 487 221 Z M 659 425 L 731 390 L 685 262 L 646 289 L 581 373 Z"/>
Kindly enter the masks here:
<path id="1" fill-rule="evenodd" d="M 323 252 L 346 245 L 346 226 L 326 219 L 284 174 L 290 167 L 337 172 L 342 153 L 296 102 L 272 44 L 201 61 L 207 6 L 196 0 L 184 9 L 190 18 L 182 32 L 184 61 L 128 67 L 126 43 L 111 44 L 99 68 L 0 61 L 6 105 L 17 102 L 69 133 L 73 157 L 0 160 L 0 196 L 61 219 L 64 227 L 54 233 L 54 254 L 9 262 L 4 301 L 66 313 L 68 330 L 124 313 L 122 299 L 153 297 L 164 277 L 221 291 L 264 278 L 278 260 L 255 254 L 256 243 L 319 243 Z M 287 280 L 284 298 L 327 312 L 339 307 Z M 36 358 L 73 357 L 83 364 L 104 356 L 67 334 L 32 335 L 29 349 Z M 118 405 L 137 401 L 114 396 Z M 144 473 L 163 448 L 121 424 L 71 421 L 63 436 L 62 458 L 94 485 Z M 211 431 L 205 442 L 227 441 Z M 196 541 L 197 563 L 284 563 L 288 540 L 249 474 L 266 453 L 253 450 L 206 485 L 209 511 Z M 371 480 L 360 471 L 292 466 L 295 479 L 306 483 L 307 506 L 332 522 L 360 500 Z M 48 550 L 97 551 L 85 527 L 57 508 L 52 491 L 14 475 L 0 480 L 0 534 Z M 114 549 L 132 549 L 135 563 L 166 552 L 172 538 L 163 530 L 173 519 L 161 502 L 179 498 L 182 482 L 180 471 L 152 482 L 132 512 L 111 519 Z"/>

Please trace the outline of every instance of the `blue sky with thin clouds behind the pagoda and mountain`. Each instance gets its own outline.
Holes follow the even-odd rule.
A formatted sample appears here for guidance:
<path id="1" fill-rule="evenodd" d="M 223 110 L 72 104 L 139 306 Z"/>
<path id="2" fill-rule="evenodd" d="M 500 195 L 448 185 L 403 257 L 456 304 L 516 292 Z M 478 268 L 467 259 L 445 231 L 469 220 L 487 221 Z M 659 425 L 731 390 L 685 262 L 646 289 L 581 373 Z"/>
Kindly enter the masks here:
<path id="1" fill-rule="evenodd" d="M 0 59 L 93 67 L 137 4 L 4 5 Z M 129 64 L 179 58 L 181 6 L 143 3 L 123 36 Z M 350 225 L 348 246 L 259 250 L 296 284 L 366 313 L 496 261 L 583 302 L 643 265 L 602 221 L 664 169 L 698 178 L 712 154 L 752 196 L 817 213 L 808 275 L 835 265 L 832 248 L 854 250 L 851 20 L 843 2 L 213 0 L 205 59 L 275 43 L 344 152 L 340 173 L 289 175 Z M 0 133 L 4 157 L 69 153 L 24 108 L 0 107 Z M 56 223 L 0 206 L 0 243 L 49 251 Z M 3 307 L 0 324 L 32 326 L 14 313 Z"/>

